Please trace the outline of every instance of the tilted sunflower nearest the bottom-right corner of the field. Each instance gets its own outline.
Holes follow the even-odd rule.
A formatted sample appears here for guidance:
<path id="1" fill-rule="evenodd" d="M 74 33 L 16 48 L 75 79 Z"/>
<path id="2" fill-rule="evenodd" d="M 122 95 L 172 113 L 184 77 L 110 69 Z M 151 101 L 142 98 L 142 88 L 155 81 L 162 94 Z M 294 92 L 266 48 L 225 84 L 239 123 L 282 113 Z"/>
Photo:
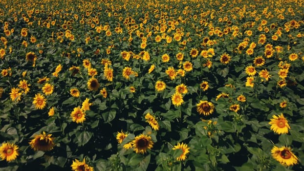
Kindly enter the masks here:
<path id="1" fill-rule="evenodd" d="M 271 149 L 271 154 L 274 159 L 284 166 L 292 166 L 298 163 L 297 156 L 291 151 L 290 147 L 276 147 Z"/>

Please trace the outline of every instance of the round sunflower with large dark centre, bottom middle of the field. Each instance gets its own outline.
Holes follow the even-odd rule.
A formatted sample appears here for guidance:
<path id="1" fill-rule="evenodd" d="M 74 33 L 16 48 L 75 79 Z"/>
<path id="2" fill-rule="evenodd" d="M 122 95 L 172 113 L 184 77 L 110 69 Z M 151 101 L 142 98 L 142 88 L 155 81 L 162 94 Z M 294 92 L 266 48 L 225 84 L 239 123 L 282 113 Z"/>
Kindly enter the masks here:
<path id="1" fill-rule="evenodd" d="M 153 147 L 152 138 L 149 135 L 140 134 L 132 141 L 133 150 L 138 153 L 146 153 L 147 149 L 151 150 Z"/>

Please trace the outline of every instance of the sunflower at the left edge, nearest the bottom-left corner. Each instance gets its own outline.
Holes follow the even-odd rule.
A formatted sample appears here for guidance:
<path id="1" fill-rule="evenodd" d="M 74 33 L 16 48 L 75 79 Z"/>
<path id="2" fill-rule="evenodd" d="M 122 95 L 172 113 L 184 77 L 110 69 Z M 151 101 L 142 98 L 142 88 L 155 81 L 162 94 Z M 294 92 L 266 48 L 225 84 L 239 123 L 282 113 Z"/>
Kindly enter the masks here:
<path id="1" fill-rule="evenodd" d="M 19 147 L 11 143 L 2 143 L 0 147 L 0 157 L 2 160 L 12 161 L 19 155 Z"/>

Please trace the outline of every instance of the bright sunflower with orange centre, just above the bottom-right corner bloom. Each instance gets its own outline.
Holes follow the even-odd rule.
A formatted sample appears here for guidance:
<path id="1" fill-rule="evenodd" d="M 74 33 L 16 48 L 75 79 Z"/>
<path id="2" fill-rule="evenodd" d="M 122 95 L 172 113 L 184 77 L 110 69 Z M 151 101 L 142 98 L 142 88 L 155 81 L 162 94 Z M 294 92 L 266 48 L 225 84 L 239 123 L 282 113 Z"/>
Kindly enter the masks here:
<path id="1" fill-rule="evenodd" d="M 270 129 L 278 134 L 288 133 L 288 129 L 290 129 L 288 121 L 282 113 L 278 116 L 272 115 L 269 124 L 271 125 Z"/>

